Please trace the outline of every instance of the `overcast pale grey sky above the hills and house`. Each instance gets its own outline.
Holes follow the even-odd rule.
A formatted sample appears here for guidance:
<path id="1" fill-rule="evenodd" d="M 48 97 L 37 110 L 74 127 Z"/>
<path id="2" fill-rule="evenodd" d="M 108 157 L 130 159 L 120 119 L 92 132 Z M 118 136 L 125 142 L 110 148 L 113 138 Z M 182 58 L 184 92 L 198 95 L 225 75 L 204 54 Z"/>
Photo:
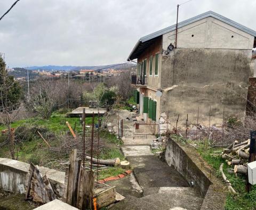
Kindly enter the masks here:
<path id="1" fill-rule="evenodd" d="M 0 0 L 0 15 L 14 0 Z M 125 62 L 138 39 L 173 25 L 186 0 L 20 0 L 0 21 L 10 67 Z M 255 0 L 192 0 L 179 21 L 212 10 L 253 30 Z"/>

